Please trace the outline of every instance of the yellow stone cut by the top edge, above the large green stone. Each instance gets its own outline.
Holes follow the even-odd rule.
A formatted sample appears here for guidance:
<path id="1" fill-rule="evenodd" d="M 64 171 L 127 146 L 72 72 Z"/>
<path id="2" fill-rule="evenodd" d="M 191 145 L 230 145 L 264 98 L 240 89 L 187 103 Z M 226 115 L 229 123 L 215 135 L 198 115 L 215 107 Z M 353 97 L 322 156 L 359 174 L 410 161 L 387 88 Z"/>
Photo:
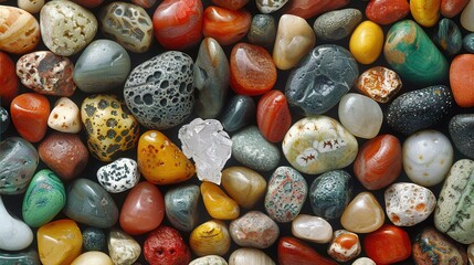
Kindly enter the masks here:
<path id="1" fill-rule="evenodd" d="M 440 19 L 441 0 L 410 0 L 413 19 L 422 26 L 433 26 Z"/>

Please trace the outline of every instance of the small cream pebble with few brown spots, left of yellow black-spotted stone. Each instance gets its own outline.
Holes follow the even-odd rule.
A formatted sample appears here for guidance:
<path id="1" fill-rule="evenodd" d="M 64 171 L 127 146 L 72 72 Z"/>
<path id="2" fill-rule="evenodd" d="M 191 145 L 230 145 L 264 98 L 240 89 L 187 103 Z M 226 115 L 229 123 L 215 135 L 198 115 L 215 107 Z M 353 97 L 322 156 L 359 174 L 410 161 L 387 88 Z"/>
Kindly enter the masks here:
<path id="1" fill-rule="evenodd" d="M 48 126 L 61 132 L 80 132 L 82 124 L 77 105 L 67 97 L 59 98 L 48 117 Z"/>

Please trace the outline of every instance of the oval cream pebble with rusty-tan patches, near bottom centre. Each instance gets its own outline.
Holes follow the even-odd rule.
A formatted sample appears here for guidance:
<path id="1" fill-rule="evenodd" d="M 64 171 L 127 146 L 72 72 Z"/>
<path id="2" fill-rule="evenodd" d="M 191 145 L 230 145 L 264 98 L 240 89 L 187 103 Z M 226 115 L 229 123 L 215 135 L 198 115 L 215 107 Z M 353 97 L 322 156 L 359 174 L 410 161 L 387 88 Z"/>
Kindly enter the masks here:
<path id="1" fill-rule="evenodd" d="M 280 229 L 268 215 L 250 211 L 230 223 L 229 233 L 240 246 L 267 248 L 278 239 Z"/>

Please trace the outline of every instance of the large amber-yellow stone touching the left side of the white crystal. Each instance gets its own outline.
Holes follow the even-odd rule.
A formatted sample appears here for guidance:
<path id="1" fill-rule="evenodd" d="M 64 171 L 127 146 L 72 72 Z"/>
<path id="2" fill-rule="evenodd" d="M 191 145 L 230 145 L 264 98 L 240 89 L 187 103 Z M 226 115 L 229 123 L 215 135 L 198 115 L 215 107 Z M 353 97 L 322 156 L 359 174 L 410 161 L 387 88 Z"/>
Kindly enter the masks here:
<path id="1" fill-rule="evenodd" d="M 194 176 L 194 165 L 168 137 L 148 130 L 138 140 L 138 168 L 154 184 L 176 184 Z"/>

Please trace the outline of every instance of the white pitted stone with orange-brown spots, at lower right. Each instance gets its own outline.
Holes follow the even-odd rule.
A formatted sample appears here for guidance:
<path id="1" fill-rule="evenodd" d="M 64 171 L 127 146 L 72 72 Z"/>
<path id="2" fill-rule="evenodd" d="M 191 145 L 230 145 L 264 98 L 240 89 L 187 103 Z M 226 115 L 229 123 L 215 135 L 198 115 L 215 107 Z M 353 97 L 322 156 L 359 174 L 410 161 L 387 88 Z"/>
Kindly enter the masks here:
<path id="1" fill-rule="evenodd" d="M 414 183 L 394 183 L 385 193 L 387 216 L 398 226 L 423 222 L 434 211 L 436 198 L 429 189 Z"/>

